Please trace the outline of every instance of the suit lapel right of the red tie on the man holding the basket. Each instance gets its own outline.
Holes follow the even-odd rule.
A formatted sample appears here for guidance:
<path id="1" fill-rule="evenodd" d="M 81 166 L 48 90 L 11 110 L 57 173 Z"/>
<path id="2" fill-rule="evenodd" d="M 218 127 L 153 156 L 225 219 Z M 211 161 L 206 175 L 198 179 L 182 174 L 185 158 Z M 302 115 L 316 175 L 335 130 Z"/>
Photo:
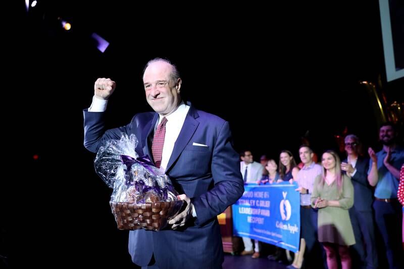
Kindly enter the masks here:
<path id="1" fill-rule="evenodd" d="M 181 152 L 184 150 L 185 146 L 188 144 L 192 135 L 195 133 L 196 128 L 199 125 L 195 119 L 199 117 L 196 110 L 191 106 L 189 112 L 185 117 L 184 125 L 181 128 L 180 134 L 175 141 L 173 152 L 171 153 L 170 159 L 167 164 L 166 173 L 171 169 L 175 160 L 179 157 Z"/>

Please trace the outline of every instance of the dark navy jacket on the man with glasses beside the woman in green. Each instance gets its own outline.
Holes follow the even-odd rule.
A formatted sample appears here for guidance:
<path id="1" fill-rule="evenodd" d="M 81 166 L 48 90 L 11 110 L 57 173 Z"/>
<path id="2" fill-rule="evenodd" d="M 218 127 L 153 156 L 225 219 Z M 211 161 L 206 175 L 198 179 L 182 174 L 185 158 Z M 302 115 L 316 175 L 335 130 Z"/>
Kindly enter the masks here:
<path id="1" fill-rule="evenodd" d="M 343 162 L 347 162 L 344 159 Z M 355 166 L 357 173 L 352 177 L 354 185 L 354 206 L 357 211 L 372 211 L 373 188 L 368 181 L 369 158 L 358 156 Z"/>

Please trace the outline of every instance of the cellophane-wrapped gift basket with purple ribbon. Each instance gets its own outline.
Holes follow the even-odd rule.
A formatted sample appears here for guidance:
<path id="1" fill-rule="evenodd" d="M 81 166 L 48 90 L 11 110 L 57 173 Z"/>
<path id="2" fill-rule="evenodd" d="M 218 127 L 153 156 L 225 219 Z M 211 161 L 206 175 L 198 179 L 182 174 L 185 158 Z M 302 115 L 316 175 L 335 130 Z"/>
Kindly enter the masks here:
<path id="1" fill-rule="evenodd" d="M 108 140 L 94 160 L 96 173 L 113 192 L 110 205 L 120 230 L 159 231 L 176 216 L 183 205 L 171 180 L 150 161 L 135 151 L 134 134 Z"/>

